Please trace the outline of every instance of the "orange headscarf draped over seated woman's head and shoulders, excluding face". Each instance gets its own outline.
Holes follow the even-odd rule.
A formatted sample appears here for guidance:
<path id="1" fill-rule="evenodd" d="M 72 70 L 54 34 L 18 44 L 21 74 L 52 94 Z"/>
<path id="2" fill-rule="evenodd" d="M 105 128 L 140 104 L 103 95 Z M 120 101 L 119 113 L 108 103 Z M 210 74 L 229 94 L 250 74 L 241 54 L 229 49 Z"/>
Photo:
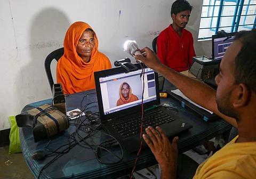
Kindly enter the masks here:
<path id="1" fill-rule="evenodd" d="M 111 63 L 107 56 L 98 51 L 98 38 L 95 32 L 95 47 L 92 50 L 91 60 L 85 63 L 77 54 L 76 46 L 78 41 L 88 28 L 91 27 L 85 22 L 75 22 L 66 33 L 63 44 L 64 54 L 59 59 L 56 70 L 57 83 L 62 85 L 66 94 L 94 89 L 94 71 L 111 68 Z"/>

